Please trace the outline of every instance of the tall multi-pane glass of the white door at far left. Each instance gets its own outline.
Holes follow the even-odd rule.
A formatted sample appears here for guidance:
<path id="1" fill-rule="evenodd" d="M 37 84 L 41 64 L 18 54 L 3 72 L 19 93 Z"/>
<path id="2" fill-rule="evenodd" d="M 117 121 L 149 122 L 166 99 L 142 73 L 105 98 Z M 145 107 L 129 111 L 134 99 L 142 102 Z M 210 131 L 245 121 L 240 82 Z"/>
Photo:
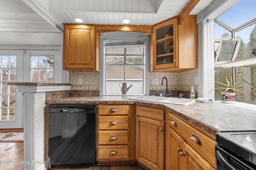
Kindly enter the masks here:
<path id="1" fill-rule="evenodd" d="M 0 55 L 0 121 L 16 120 L 16 88 L 7 85 L 7 82 L 16 81 L 16 59 L 15 55 Z"/>

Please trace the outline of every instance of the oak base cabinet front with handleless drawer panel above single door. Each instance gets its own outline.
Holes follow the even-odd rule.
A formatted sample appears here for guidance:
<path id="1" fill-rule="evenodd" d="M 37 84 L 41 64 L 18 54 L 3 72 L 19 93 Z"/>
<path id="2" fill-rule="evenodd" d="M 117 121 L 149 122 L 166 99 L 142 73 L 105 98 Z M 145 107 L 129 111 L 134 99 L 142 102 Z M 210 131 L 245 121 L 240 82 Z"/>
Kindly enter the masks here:
<path id="1" fill-rule="evenodd" d="M 137 106 L 136 115 L 137 161 L 149 169 L 164 170 L 164 110 Z"/>

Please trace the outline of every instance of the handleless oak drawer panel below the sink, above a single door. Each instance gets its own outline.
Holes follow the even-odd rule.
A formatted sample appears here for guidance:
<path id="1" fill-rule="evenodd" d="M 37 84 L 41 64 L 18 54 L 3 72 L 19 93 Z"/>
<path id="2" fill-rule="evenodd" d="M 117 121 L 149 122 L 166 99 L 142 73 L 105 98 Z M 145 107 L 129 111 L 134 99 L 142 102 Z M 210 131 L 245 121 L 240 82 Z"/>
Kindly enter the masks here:
<path id="1" fill-rule="evenodd" d="M 149 119 L 164 121 L 164 110 L 162 109 L 136 106 L 136 115 Z"/>

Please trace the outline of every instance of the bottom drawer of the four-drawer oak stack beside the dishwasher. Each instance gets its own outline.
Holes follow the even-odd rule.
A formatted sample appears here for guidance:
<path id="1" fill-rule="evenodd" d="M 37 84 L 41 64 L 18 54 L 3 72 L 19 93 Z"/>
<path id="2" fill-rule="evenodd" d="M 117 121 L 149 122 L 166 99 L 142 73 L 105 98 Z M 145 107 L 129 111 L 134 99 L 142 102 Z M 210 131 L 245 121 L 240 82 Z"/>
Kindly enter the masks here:
<path id="1" fill-rule="evenodd" d="M 99 146 L 98 159 L 128 159 L 128 145 Z"/>

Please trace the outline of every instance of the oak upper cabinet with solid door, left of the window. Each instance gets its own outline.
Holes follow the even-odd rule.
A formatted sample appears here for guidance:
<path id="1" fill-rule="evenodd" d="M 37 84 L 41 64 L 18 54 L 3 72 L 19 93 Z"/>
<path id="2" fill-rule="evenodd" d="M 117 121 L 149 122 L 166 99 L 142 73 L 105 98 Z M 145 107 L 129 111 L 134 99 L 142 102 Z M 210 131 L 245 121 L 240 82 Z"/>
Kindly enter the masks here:
<path id="1" fill-rule="evenodd" d="M 63 69 L 99 71 L 94 25 L 64 24 Z"/>

